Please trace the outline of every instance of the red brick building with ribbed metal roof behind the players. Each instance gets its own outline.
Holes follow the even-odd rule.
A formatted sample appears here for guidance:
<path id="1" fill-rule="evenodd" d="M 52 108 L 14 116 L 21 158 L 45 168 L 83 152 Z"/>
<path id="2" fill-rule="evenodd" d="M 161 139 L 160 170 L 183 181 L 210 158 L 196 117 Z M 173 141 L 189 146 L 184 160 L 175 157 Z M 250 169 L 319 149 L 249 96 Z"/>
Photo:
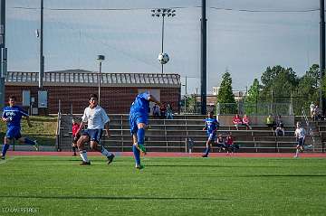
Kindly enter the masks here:
<path id="1" fill-rule="evenodd" d="M 17 103 L 34 114 L 82 113 L 91 93 L 98 94 L 98 73 L 88 70 L 59 70 L 44 73 L 43 89 L 38 89 L 37 72 L 8 71 L 5 99 L 17 97 Z M 135 96 L 145 89 L 177 111 L 181 97 L 178 74 L 101 73 L 101 107 L 108 113 L 129 113 Z M 45 96 L 44 94 L 45 93 Z M 42 102 L 42 101 L 43 102 Z"/>

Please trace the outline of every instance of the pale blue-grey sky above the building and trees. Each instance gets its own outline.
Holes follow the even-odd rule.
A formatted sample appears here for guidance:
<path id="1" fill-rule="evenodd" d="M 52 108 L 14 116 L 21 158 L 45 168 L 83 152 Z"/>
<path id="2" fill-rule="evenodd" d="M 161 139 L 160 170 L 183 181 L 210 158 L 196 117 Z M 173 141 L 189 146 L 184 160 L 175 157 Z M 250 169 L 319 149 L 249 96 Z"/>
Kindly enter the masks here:
<path id="1" fill-rule="evenodd" d="M 8 70 L 38 71 L 40 0 L 6 1 Z M 319 63 L 319 0 L 206 0 L 207 91 L 225 70 L 245 90 L 268 66 L 302 76 Z M 187 93 L 200 91 L 201 0 L 44 0 L 45 71 L 160 73 L 162 19 L 150 9 L 177 7 L 165 22 L 165 72 L 178 73 Z M 88 10 L 58 10 L 58 9 Z M 89 10 L 109 9 L 109 10 Z M 111 10 L 119 9 L 119 10 Z M 182 87 L 182 93 L 185 87 Z"/>

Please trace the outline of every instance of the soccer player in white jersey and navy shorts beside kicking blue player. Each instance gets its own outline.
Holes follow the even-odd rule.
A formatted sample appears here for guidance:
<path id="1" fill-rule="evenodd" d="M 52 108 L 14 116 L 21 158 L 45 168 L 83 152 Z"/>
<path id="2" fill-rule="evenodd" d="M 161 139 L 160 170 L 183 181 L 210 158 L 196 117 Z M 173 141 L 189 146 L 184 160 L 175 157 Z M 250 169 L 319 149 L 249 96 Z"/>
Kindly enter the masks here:
<path id="1" fill-rule="evenodd" d="M 104 127 L 106 128 L 106 136 L 109 136 L 109 122 L 110 118 L 103 108 L 98 105 L 98 97 L 96 94 L 91 94 L 90 96 L 90 106 L 85 108 L 82 115 L 81 127 L 77 130 L 77 134 L 81 133 L 82 128 L 87 123 L 87 130 L 82 132 L 82 136 L 77 141 L 78 150 L 82 157 L 81 165 L 91 165 L 90 160 L 87 158 L 87 152 L 84 148 L 86 142 L 91 141 L 91 149 L 101 152 L 102 155 L 108 158 L 108 164 L 113 161 L 114 155 L 111 154 L 103 146 L 99 146 L 100 139 Z"/>

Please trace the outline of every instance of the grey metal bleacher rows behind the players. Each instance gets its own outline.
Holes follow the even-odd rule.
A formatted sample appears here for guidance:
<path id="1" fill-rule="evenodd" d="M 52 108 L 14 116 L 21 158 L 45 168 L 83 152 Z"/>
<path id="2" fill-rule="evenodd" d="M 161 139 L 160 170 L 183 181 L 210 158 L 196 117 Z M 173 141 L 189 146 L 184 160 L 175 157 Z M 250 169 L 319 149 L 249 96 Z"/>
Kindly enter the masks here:
<path id="1" fill-rule="evenodd" d="M 193 141 L 192 152 L 203 152 L 206 147 L 206 131 L 203 131 L 205 116 L 176 115 L 174 119 L 158 119 L 150 117 L 146 132 L 145 145 L 150 152 L 186 152 L 187 139 Z M 62 117 L 62 150 L 71 148 L 71 122 L 72 117 Z M 251 130 L 245 127 L 220 126 L 218 134 L 223 136 L 232 133 L 235 144 L 240 146 L 239 152 L 293 152 L 296 140 L 294 126 L 285 126 L 285 136 L 275 136 L 273 130 L 266 126 L 252 126 Z M 323 127 L 323 126 L 321 126 Z M 326 126 L 325 126 L 326 127 Z M 321 143 L 321 138 L 315 137 Z M 110 115 L 110 137 L 102 137 L 102 144 L 113 152 L 130 152 L 131 136 L 129 132 L 128 115 Z M 306 144 L 312 143 L 307 137 Z M 213 152 L 218 149 L 213 146 Z"/>

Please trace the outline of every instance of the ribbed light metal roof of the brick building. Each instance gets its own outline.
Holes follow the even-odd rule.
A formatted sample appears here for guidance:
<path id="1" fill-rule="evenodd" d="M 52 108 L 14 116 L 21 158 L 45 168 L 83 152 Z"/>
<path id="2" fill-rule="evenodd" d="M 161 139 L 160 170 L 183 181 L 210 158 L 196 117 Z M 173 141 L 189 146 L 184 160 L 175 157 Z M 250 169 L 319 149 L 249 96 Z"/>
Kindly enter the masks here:
<path id="1" fill-rule="evenodd" d="M 98 86 L 99 73 L 89 70 L 44 72 L 43 86 Z M 8 71 L 5 85 L 37 86 L 38 72 Z M 101 73 L 102 87 L 180 88 L 179 74 Z"/>

